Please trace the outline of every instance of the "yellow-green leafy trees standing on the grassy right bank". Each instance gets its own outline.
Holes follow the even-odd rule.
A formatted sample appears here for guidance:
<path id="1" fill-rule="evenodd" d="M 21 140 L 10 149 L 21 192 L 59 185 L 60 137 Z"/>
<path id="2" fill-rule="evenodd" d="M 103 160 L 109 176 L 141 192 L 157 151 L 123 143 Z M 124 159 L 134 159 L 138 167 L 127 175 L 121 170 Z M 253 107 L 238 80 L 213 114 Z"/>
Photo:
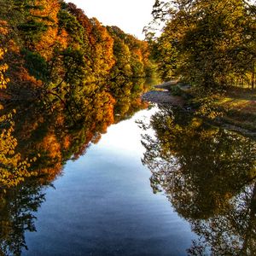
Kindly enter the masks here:
<path id="1" fill-rule="evenodd" d="M 207 89 L 255 88 L 255 14 L 253 1 L 156 0 L 146 32 L 162 79 Z M 164 24 L 159 38 L 155 24 Z"/>

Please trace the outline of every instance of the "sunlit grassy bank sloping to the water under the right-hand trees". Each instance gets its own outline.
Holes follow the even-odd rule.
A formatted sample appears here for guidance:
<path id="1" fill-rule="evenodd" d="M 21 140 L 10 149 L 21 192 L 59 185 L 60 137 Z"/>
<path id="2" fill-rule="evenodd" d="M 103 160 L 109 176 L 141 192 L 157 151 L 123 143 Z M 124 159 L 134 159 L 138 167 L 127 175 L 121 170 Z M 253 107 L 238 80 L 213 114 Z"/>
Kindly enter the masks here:
<path id="1" fill-rule="evenodd" d="M 204 115 L 218 124 L 256 136 L 256 90 L 230 87 L 226 92 L 211 96 L 196 96 L 183 84 L 168 84 L 172 95 L 182 96 L 186 108 Z"/>

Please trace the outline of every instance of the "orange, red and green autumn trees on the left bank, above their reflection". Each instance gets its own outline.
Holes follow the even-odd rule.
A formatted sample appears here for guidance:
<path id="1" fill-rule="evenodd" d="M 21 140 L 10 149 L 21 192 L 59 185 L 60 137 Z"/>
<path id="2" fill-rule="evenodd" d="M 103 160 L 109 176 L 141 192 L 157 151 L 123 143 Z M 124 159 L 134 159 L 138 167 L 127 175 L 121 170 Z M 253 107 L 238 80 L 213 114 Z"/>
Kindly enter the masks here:
<path id="1" fill-rule="evenodd" d="M 151 74 L 146 42 L 116 26 L 102 26 L 73 3 L 0 3 L 0 47 L 7 50 L 2 62 L 9 66 L 10 97 L 50 94 L 79 102 L 99 81 Z"/>

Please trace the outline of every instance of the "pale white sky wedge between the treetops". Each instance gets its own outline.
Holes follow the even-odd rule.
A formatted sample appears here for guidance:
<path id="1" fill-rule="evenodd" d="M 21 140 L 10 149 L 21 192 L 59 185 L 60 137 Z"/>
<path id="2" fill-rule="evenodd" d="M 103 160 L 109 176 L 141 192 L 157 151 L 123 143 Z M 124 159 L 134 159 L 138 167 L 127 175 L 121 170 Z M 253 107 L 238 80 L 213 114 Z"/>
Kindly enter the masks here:
<path id="1" fill-rule="evenodd" d="M 154 0 L 67 0 L 96 17 L 105 26 L 119 26 L 124 32 L 144 39 L 143 27 L 152 20 Z"/>

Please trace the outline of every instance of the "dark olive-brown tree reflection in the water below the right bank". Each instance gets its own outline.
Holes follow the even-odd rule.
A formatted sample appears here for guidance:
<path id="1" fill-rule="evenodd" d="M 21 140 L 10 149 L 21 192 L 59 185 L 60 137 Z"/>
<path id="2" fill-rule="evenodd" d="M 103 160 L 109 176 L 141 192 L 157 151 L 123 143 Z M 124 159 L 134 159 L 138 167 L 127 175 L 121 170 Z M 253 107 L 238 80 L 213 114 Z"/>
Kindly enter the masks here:
<path id="1" fill-rule="evenodd" d="M 143 124 L 147 130 L 147 125 Z M 201 239 L 190 255 L 256 254 L 256 143 L 161 107 L 143 136 L 143 164 L 154 193 L 163 190 Z"/>

